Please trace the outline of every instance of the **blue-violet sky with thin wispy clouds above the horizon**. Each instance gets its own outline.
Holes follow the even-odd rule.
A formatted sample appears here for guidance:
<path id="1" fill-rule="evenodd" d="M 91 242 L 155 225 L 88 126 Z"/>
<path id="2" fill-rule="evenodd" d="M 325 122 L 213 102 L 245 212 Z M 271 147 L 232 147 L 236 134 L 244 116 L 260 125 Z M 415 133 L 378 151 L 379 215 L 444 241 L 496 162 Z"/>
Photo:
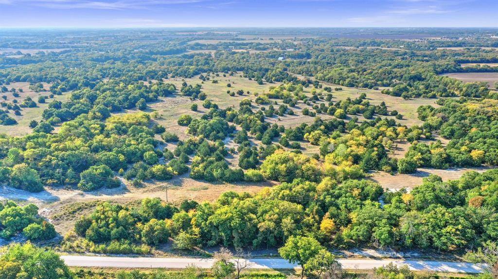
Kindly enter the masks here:
<path id="1" fill-rule="evenodd" d="M 498 0 L 0 0 L 0 27 L 498 27 Z"/>

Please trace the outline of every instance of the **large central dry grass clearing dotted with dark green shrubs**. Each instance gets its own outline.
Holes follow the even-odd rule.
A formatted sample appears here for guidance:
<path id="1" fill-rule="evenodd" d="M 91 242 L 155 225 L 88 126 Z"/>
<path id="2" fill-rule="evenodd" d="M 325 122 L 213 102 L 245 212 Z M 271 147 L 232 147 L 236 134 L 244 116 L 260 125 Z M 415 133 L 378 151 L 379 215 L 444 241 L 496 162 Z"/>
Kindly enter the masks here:
<path id="1" fill-rule="evenodd" d="M 239 106 L 239 103 L 241 100 L 244 98 L 249 98 L 252 101 L 256 98 L 254 93 L 264 93 L 268 92 L 271 86 L 278 86 L 279 83 L 264 83 L 264 84 L 257 84 L 256 81 L 254 80 L 249 80 L 248 78 L 242 77 L 241 73 L 237 73 L 233 76 L 226 76 L 224 77 L 223 74 L 220 74 L 220 76 L 215 77 L 216 80 L 218 80 L 218 83 L 212 83 L 210 80 L 204 81 L 202 83 L 202 80 L 198 78 L 198 76 L 192 77 L 192 78 L 170 78 L 166 80 L 166 82 L 171 82 L 175 84 L 175 86 L 179 89 L 181 88 L 181 84 L 185 81 L 188 84 L 195 85 L 197 83 L 200 83 L 202 85 L 201 91 L 207 94 L 207 99 L 215 102 L 220 106 L 220 108 L 227 108 L 227 107 L 235 107 L 237 108 Z M 230 83 L 232 86 L 227 87 L 227 84 Z M 332 87 L 342 87 L 340 85 L 336 84 L 329 84 L 325 83 L 326 85 L 332 86 Z M 337 102 L 339 100 L 344 100 L 346 98 L 356 98 L 360 96 L 361 93 L 366 93 L 367 98 L 372 104 L 379 104 L 380 102 L 384 101 L 388 107 L 389 110 L 397 110 L 399 113 L 404 115 L 403 119 L 401 120 L 396 120 L 399 123 L 403 125 L 419 125 L 422 124 L 420 120 L 417 119 L 417 113 L 416 110 L 418 106 L 420 105 L 426 105 L 430 104 L 433 106 L 437 106 L 435 104 L 434 99 L 414 99 L 414 100 L 403 100 L 399 97 L 393 97 L 389 96 L 386 94 L 380 93 L 380 90 L 372 90 L 372 89 L 363 89 L 363 88 L 349 88 L 349 87 L 342 87 L 343 90 L 341 91 L 333 91 L 333 98 L 332 101 Z M 230 96 L 227 94 L 227 90 L 230 91 L 237 91 L 239 89 L 244 90 L 244 95 L 235 95 L 235 96 Z M 311 87 L 304 88 L 304 93 L 311 95 Z M 249 91 L 249 94 L 247 93 Z M 282 100 L 274 100 L 272 99 L 271 101 L 276 101 L 277 105 L 273 105 L 275 108 L 282 104 Z M 325 101 L 319 101 L 318 103 L 325 102 Z M 163 125 L 167 131 L 176 133 L 180 139 L 187 139 L 189 136 L 186 134 L 187 128 L 183 126 L 179 126 L 177 124 L 178 118 L 182 114 L 189 114 L 192 117 L 201 117 L 202 114 L 206 113 L 208 109 L 202 107 L 203 101 L 201 100 L 190 100 L 189 97 L 181 96 L 179 94 L 169 96 L 169 97 L 161 97 L 157 102 L 154 103 L 149 103 L 148 108 L 145 110 L 145 112 L 157 112 L 160 115 L 159 119 L 155 119 L 158 124 Z M 197 104 L 198 105 L 198 111 L 194 112 L 190 109 L 192 104 Z M 262 105 L 255 104 L 253 102 L 253 110 L 258 110 Z M 265 107 L 268 107 L 268 105 L 264 105 Z M 298 102 L 298 104 L 292 108 L 294 111 L 295 115 L 284 115 L 284 116 L 273 116 L 271 118 L 266 118 L 266 121 L 270 123 L 276 123 L 278 125 L 283 125 L 286 128 L 289 127 L 296 127 L 301 125 L 302 123 L 312 123 L 314 121 L 314 117 L 311 116 L 305 116 L 302 114 L 302 110 L 304 108 L 308 107 L 306 104 L 303 102 Z M 311 107 L 308 107 L 311 109 Z M 123 113 L 131 113 L 131 112 L 137 112 L 137 109 L 132 109 L 132 110 L 126 110 Z M 330 116 L 326 113 L 322 113 L 319 115 L 322 119 L 328 120 L 334 118 L 333 116 Z M 357 115 L 359 118 L 359 121 L 364 121 L 365 119 L 363 118 L 362 115 Z M 387 116 L 387 118 L 393 118 L 391 116 Z M 348 116 L 348 119 L 351 119 L 351 116 Z M 348 120 L 347 119 L 347 120 Z M 318 151 L 317 146 L 313 146 L 311 144 L 308 144 L 306 142 L 302 143 L 302 151 L 305 154 L 313 154 Z M 237 158 L 234 158 L 235 160 L 229 160 L 231 162 L 234 162 L 236 166 L 237 165 Z"/>

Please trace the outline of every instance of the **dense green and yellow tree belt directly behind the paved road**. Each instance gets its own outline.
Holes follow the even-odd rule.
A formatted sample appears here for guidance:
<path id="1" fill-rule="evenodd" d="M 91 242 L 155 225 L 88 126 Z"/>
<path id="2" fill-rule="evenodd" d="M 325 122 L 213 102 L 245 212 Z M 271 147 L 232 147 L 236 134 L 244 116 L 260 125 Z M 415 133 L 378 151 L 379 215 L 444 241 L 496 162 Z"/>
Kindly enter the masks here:
<path id="1" fill-rule="evenodd" d="M 96 243 L 157 245 L 171 236 L 177 249 L 280 247 L 293 236 L 308 236 L 329 247 L 451 251 L 498 237 L 497 181 L 496 170 L 448 182 L 431 175 L 407 193 L 384 192 L 368 180 L 298 178 L 256 195 L 226 192 L 215 203 L 185 201 L 178 208 L 158 199 L 135 208 L 104 203 L 75 231 Z"/>

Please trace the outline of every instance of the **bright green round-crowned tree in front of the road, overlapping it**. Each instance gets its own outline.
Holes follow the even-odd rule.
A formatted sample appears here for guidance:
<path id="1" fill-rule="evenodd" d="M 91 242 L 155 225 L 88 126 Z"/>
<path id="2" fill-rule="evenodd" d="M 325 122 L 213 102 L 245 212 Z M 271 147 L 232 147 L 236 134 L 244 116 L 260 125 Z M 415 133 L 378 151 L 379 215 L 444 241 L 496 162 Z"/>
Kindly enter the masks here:
<path id="1" fill-rule="evenodd" d="M 325 248 L 312 237 L 291 236 L 285 245 L 278 249 L 280 256 L 290 263 L 297 263 L 301 266 L 301 279 L 304 276 L 307 266 L 314 266 L 310 260 L 317 257 Z"/>

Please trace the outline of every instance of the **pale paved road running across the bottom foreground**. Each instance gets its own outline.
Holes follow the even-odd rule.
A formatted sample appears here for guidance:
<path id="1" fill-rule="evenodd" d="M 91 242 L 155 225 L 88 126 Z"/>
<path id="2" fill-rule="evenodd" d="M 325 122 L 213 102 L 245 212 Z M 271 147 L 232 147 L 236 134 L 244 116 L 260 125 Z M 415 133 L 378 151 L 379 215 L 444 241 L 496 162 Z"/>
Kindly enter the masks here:
<path id="1" fill-rule="evenodd" d="M 92 257 L 92 256 L 61 256 L 68 266 L 73 267 L 113 267 L 113 268 L 171 268 L 182 269 L 189 265 L 199 268 L 210 268 L 213 259 L 194 258 L 130 258 L 130 257 Z M 252 269 L 292 269 L 296 265 L 283 259 L 252 259 Z M 370 260 L 370 259 L 340 259 L 345 269 L 373 269 L 389 263 L 398 266 L 407 265 L 414 271 L 434 271 L 453 273 L 480 273 L 486 268 L 484 264 L 464 262 L 438 262 L 423 260 Z"/>

